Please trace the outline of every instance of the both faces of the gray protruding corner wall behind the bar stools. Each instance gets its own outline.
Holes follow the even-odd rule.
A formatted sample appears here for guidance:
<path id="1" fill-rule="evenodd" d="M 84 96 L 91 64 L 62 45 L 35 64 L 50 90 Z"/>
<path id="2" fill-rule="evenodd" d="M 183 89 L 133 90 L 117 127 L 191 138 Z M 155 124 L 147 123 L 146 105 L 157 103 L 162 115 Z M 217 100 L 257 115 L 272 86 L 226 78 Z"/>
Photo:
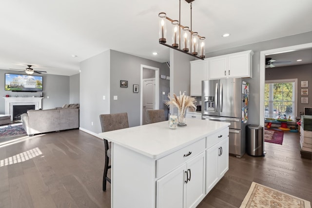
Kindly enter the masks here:
<path id="1" fill-rule="evenodd" d="M 157 67 L 160 69 L 160 74 L 169 76 L 166 63 L 154 62 L 114 50 L 104 51 L 80 62 L 81 129 L 98 134 L 101 132 L 99 114 L 120 112 L 128 113 L 130 126 L 140 125 L 141 92 L 134 93 L 133 84 L 140 84 L 141 64 Z M 120 87 L 120 80 L 128 81 L 128 87 Z M 169 85 L 168 80 L 161 80 L 160 85 L 163 82 Z M 168 93 L 169 89 L 166 92 Z M 117 100 L 113 99 L 114 95 L 117 96 Z"/>

